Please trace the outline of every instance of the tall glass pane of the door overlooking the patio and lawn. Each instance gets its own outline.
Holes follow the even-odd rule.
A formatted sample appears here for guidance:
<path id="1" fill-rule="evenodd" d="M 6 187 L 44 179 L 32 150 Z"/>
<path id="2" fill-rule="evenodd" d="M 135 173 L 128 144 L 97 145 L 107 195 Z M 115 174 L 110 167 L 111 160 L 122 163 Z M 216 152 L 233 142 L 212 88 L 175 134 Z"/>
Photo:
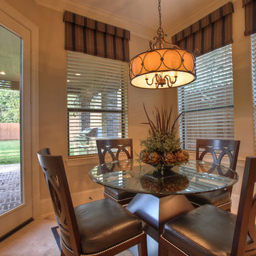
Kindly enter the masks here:
<path id="1" fill-rule="evenodd" d="M 20 65 L 21 38 L 0 26 L 0 215 L 23 203 Z"/>

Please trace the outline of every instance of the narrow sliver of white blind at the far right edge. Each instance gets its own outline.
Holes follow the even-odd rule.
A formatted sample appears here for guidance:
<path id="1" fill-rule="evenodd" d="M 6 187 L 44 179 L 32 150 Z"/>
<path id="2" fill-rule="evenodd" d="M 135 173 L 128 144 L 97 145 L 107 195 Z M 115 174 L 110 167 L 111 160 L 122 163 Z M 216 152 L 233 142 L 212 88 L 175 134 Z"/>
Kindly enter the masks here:
<path id="1" fill-rule="evenodd" d="M 251 35 L 252 54 L 252 98 L 254 107 L 254 129 L 255 129 L 255 149 L 256 149 L 256 33 Z"/>

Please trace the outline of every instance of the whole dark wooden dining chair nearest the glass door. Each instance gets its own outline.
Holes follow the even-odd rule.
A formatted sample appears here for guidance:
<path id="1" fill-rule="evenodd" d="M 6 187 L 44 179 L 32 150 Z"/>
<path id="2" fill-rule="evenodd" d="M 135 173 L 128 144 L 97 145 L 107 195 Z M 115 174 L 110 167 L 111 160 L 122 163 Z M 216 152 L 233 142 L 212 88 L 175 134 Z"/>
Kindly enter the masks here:
<path id="1" fill-rule="evenodd" d="M 62 156 L 51 156 L 50 149 L 37 154 L 60 228 L 61 256 L 116 255 L 134 245 L 139 255 L 147 255 L 137 216 L 110 198 L 74 208 Z"/>

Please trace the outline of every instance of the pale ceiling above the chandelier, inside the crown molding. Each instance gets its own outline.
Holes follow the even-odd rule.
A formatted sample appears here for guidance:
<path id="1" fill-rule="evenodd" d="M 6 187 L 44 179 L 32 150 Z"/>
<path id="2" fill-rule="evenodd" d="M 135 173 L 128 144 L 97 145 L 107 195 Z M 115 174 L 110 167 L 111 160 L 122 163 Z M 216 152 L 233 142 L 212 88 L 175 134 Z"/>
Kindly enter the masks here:
<path id="1" fill-rule="evenodd" d="M 156 30 L 159 25 L 158 0 L 78 0 L 132 23 Z M 162 27 L 169 27 L 191 12 L 201 9 L 213 0 L 161 0 Z"/>

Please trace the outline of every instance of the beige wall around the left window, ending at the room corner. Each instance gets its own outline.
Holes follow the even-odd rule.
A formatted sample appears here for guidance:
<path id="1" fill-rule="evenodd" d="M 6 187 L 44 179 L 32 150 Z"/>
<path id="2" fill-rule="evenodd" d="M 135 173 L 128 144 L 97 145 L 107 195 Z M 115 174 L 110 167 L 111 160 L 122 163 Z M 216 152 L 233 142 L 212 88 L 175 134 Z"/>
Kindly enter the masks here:
<path id="1" fill-rule="evenodd" d="M 90 201 L 102 196 L 102 191 L 94 193 L 102 186 L 91 181 L 88 171 L 98 161 L 87 159 L 67 163 L 67 107 L 66 107 L 66 51 L 64 50 L 63 13 L 40 6 L 33 0 L 12 0 L 9 4 L 39 28 L 39 147 L 50 147 L 52 154 L 61 154 L 65 161 L 66 172 L 73 193 L 75 204 Z M 91 17 L 93 18 L 93 17 Z M 148 41 L 133 36 L 130 42 L 131 56 L 148 48 Z M 139 151 L 139 138 L 144 137 L 147 127 L 142 102 L 151 110 L 154 105 L 164 101 L 164 92 L 139 90 L 132 86 L 128 89 L 129 97 L 129 137 L 134 139 L 134 149 Z M 89 164 L 90 163 L 90 164 Z M 39 169 L 38 169 L 39 170 Z M 33 170 L 33 171 L 38 171 Z M 83 193 L 82 191 L 89 191 Z M 82 200 L 79 200 L 79 197 Z M 41 213 L 51 210 L 48 190 L 40 176 Z"/>

